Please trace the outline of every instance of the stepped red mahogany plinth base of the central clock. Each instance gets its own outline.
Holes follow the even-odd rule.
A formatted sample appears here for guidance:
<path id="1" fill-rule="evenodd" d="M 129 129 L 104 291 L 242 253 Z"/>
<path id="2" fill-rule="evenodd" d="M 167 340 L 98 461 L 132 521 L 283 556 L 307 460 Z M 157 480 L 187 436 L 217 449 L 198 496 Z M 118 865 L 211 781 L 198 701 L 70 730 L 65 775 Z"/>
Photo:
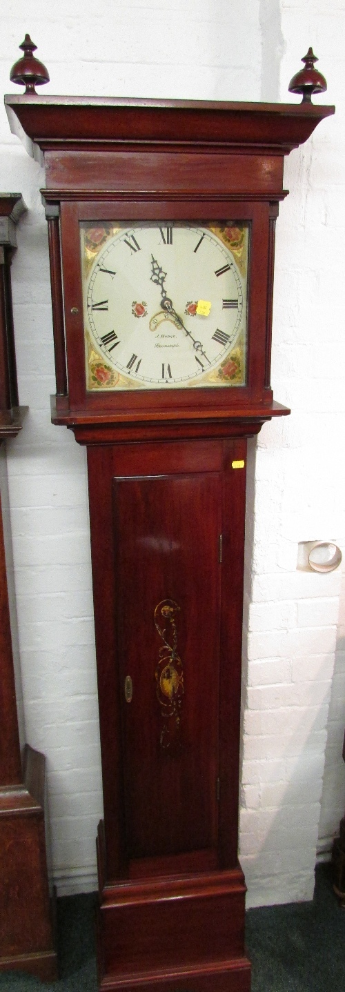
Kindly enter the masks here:
<path id="1" fill-rule="evenodd" d="M 240 865 L 106 883 L 102 821 L 97 856 L 100 990 L 250 992 Z"/>

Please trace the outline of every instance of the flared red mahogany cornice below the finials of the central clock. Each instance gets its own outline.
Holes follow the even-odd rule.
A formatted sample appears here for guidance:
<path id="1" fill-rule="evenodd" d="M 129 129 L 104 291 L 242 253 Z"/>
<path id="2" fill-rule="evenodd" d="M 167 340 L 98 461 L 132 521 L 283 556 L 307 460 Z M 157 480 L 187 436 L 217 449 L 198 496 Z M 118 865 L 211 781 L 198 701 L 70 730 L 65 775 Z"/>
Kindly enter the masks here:
<path id="1" fill-rule="evenodd" d="M 109 150 L 150 143 L 169 149 L 190 147 L 288 153 L 310 137 L 334 106 L 311 103 L 251 103 L 223 100 L 153 100 L 126 97 L 8 94 L 11 131 L 42 151 L 59 147 Z"/>

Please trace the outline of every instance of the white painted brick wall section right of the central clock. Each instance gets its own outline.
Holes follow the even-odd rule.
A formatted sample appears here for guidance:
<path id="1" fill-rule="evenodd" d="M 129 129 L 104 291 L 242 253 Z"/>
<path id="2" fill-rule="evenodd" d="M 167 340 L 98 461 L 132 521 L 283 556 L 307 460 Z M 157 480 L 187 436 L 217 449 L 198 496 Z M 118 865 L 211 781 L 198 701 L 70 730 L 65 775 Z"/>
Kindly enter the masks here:
<path id="1" fill-rule="evenodd" d="M 312 44 L 328 78 L 324 99 L 341 104 L 344 5 L 330 2 L 325 13 L 320 3 L 282 0 L 280 27 L 281 99 Z M 259 436 L 256 488 L 248 497 L 255 529 L 254 539 L 248 529 L 247 549 L 240 841 L 249 905 L 310 898 L 318 830 L 329 847 L 344 800 L 336 802 L 337 787 L 344 790 L 330 743 L 336 736 L 341 755 L 345 682 L 338 706 L 331 684 L 341 575 L 296 570 L 298 542 L 344 545 L 342 113 L 338 106 L 330 128 L 322 124 L 291 153 L 290 195 L 277 225 L 273 382 L 292 415 Z"/>

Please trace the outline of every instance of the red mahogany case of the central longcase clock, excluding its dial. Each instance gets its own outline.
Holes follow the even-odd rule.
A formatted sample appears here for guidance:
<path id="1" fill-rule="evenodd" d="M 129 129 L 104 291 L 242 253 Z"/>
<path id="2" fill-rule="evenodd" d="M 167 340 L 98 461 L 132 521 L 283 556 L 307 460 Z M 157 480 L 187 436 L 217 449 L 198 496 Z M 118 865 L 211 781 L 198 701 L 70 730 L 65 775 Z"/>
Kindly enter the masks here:
<path id="1" fill-rule="evenodd" d="M 312 60 L 299 73 L 304 89 L 294 85 L 303 102 L 288 105 L 40 97 L 45 67 L 35 71 L 32 53 L 27 43 L 12 70 L 27 93 L 5 102 L 11 129 L 46 168 L 53 421 L 87 447 L 104 796 L 100 988 L 248 992 L 237 856 L 244 466 L 247 438 L 288 414 L 270 385 L 284 157 L 334 108 L 310 103 L 325 88 Z M 87 392 L 79 224 L 115 218 L 249 222 L 245 386 Z M 170 751 L 157 692 L 162 603 L 167 617 L 177 607 L 163 637 L 176 706 L 184 678 Z"/>

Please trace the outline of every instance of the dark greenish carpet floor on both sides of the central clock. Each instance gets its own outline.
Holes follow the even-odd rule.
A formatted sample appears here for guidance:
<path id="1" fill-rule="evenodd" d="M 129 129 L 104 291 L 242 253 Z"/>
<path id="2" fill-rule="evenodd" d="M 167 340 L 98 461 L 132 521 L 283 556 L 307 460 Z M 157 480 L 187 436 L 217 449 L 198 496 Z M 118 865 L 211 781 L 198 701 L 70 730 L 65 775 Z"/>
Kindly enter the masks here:
<path id="1" fill-rule="evenodd" d="M 94 905 L 94 896 L 58 899 L 58 982 L 7 972 L 0 992 L 96 992 Z M 328 866 L 316 871 L 312 903 L 248 911 L 247 949 L 252 992 L 345 992 L 345 910 Z"/>

